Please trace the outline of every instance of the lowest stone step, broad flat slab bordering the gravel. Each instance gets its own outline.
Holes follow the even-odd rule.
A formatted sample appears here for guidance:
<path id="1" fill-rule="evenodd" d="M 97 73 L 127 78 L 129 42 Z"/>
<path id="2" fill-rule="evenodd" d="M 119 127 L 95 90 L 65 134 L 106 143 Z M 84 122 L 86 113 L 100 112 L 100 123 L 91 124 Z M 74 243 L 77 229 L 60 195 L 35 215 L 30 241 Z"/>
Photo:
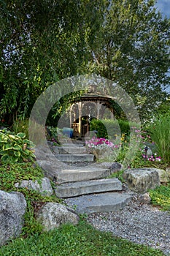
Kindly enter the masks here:
<path id="1" fill-rule="evenodd" d="M 78 214 L 95 212 L 118 211 L 132 200 L 132 193 L 107 192 L 93 195 L 81 195 L 80 197 L 67 198 L 65 203 L 69 207 L 76 206 Z"/>

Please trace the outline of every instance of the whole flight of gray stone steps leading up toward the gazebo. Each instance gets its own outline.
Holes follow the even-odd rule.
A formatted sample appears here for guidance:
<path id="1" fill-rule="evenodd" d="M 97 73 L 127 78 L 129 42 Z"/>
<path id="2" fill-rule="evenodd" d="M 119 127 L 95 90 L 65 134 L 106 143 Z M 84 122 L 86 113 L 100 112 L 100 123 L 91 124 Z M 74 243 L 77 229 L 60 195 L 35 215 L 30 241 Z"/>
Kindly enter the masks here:
<path id="1" fill-rule="evenodd" d="M 117 178 L 108 178 L 120 166 L 115 165 L 112 170 L 111 164 L 94 162 L 93 154 L 87 154 L 81 143 L 55 146 L 53 152 L 59 162 L 64 162 L 60 171 L 55 172 L 52 167 L 55 195 L 76 208 L 77 213 L 117 211 L 131 201 L 132 193 L 124 192 Z"/>

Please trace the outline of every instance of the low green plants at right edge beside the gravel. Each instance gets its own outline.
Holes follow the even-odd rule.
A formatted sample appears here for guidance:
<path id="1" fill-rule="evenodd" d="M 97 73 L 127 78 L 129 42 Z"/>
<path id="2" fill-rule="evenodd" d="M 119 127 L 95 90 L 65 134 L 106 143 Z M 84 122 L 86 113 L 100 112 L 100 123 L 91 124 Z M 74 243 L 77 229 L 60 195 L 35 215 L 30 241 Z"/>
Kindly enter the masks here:
<path id="1" fill-rule="evenodd" d="M 161 206 L 163 211 L 170 211 L 170 184 L 150 190 L 151 203 L 154 206 Z"/>

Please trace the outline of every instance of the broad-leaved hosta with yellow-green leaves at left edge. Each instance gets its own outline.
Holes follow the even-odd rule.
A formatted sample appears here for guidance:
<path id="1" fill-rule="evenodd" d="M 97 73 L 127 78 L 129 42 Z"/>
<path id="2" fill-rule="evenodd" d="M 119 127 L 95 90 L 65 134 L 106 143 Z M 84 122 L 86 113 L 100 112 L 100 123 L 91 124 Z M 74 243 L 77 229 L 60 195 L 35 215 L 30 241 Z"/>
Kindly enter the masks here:
<path id="1" fill-rule="evenodd" d="M 34 144 L 26 139 L 23 132 L 14 135 L 8 129 L 0 130 L 0 155 L 1 162 L 9 164 L 9 162 L 23 162 L 34 159 L 31 148 Z"/>

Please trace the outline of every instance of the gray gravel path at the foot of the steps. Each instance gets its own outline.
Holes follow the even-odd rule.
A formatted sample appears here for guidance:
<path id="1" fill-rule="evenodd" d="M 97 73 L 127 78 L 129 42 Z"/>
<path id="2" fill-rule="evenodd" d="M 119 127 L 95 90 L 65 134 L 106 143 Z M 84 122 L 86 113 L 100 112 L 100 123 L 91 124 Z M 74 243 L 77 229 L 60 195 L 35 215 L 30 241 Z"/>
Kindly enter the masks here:
<path id="1" fill-rule="evenodd" d="M 88 222 L 98 230 L 170 255 L 170 211 L 159 211 L 134 199 L 120 211 L 89 214 Z"/>

